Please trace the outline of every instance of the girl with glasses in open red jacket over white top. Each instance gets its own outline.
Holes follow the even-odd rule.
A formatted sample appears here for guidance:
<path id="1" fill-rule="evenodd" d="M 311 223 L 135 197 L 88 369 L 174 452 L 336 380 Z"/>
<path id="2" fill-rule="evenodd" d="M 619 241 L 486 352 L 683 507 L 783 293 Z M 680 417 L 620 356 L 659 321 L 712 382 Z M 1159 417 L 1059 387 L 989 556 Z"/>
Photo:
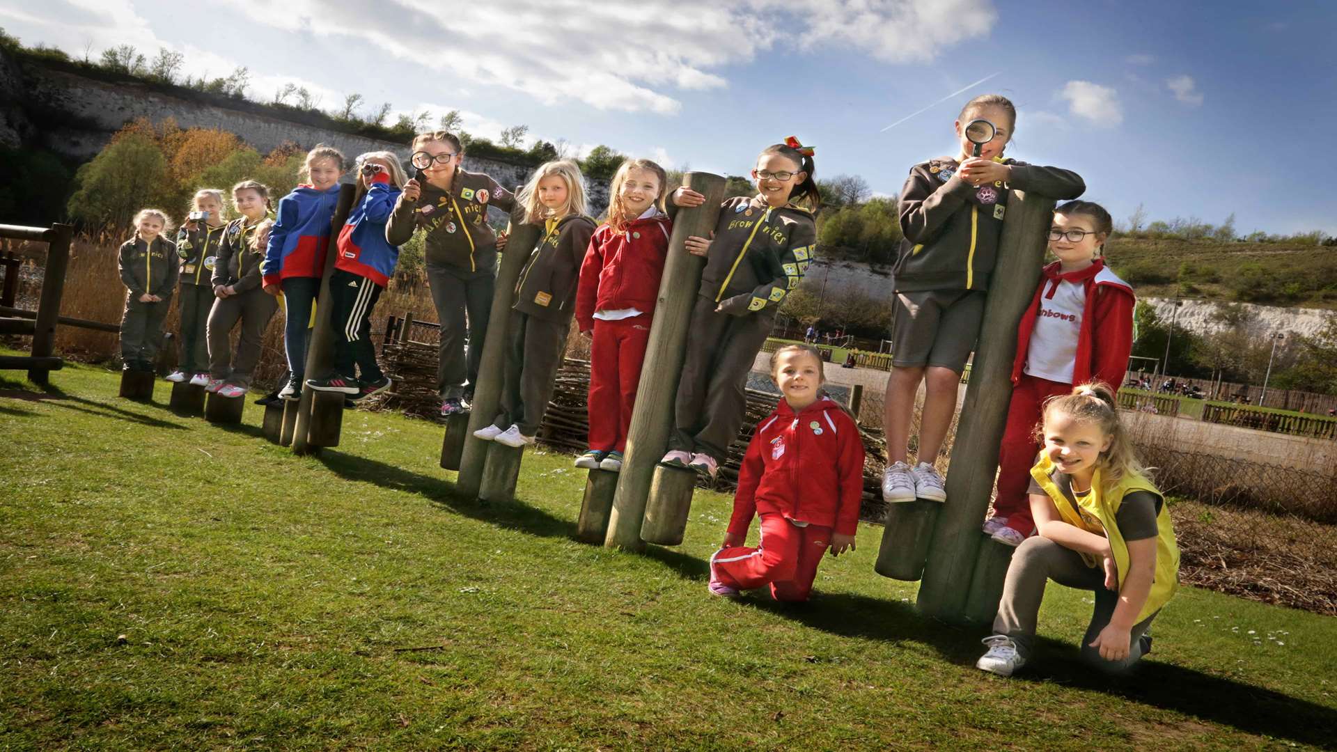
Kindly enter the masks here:
<path id="1" fill-rule="evenodd" d="M 1132 352 L 1132 288 L 1104 265 L 1114 225 L 1099 203 L 1070 201 L 1054 210 L 1050 252 L 1035 300 L 1017 328 L 1012 403 L 999 447 L 997 499 L 984 533 L 1019 546 L 1035 531 L 1027 487 L 1040 450 L 1035 427 L 1044 403 L 1072 384 L 1122 384 Z"/>

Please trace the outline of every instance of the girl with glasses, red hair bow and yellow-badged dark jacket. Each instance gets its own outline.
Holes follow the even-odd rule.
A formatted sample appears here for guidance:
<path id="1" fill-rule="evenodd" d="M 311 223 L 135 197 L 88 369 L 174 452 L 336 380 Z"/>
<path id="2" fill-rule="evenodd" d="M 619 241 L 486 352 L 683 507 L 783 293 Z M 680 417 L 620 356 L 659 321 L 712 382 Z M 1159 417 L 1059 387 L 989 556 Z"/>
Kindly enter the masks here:
<path id="1" fill-rule="evenodd" d="M 714 479 L 738 438 L 747 407 L 747 372 L 779 304 L 813 258 L 813 213 L 821 203 L 814 170 L 813 150 L 794 136 L 766 147 L 751 171 L 757 195 L 723 202 L 714 240 L 687 238 L 687 252 L 706 257 L 706 268 L 691 309 L 664 464 L 691 467 Z M 673 201 L 701 206 L 706 197 L 681 187 Z"/>

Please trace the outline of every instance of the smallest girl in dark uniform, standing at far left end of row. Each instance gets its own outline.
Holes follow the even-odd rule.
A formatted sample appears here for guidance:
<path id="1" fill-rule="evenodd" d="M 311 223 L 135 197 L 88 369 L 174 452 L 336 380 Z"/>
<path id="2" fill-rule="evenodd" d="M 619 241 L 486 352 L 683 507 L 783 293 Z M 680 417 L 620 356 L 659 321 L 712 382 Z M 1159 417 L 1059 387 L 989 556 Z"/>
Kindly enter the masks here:
<path id="1" fill-rule="evenodd" d="M 122 244 L 116 254 L 120 281 L 126 285 L 120 359 L 126 371 L 152 372 L 180 260 L 176 244 L 163 237 L 171 230 L 166 211 L 140 209 L 134 225 L 134 237 Z"/>

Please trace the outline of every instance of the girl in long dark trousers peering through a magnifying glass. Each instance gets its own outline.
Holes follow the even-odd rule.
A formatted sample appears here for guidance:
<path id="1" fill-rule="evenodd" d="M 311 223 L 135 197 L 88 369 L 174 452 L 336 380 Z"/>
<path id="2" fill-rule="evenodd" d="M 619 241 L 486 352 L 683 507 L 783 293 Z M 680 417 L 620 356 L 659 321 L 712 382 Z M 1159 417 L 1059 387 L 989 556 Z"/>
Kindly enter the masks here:
<path id="1" fill-rule="evenodd" d="M 436 387 L 441 415 L 455 415 L 468 409 L 473 396 L 492 309 L 497 237 L 488 225 L 488 206 L 511 211 L 515 197 L 488 175 L 460 167 L 464 149 L 452 132 L 418 134 L 412 149 L 417 177 L 404 183 L 385 240 L 400 246 L 414 231 L 427 233 L 427 280 L 441 322 Z"/>

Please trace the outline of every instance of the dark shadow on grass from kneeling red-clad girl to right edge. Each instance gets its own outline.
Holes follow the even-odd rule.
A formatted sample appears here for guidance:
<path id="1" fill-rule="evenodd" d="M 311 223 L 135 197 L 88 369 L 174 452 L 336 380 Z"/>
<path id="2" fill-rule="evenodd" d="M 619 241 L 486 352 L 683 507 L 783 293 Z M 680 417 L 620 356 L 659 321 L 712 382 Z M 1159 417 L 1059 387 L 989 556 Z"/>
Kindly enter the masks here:
<path id="1" fill-rule="evenodd" d="M 957 665 L 973 665 L 984 652 L 987 632 L 920 616 L 915 606 L 848 593 L 814 593 L 810 603 L 778 603 L 759 591 L 742 601 L 813 629 L 845 637 L 921 642 Z M 1078 649 L 1056 640 L 1036 640 L 1036 660 L 1012 677 L 1017 682 L 1056 682 L 1104 692 L 1131 702 L 1174 711 L 1246 733 L 1330 748 L 1337 739 L 1337 709 L 1271 689 L 1162 664 L 1150 658 L 1122 678 L 1084 664 Z"/>

